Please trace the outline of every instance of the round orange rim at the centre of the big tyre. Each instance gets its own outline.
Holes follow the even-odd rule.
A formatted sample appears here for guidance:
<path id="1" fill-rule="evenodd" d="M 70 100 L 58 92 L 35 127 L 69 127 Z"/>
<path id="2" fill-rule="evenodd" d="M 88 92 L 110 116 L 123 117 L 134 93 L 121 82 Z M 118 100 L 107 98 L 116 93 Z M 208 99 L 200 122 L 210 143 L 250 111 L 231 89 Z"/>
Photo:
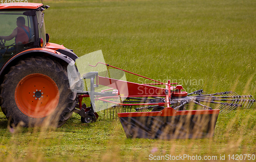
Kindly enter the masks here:
<path id="1" fill-rule="evenodd" d="M 20 80 L 14 96 L 19 110 L 32 118 L 46 117 L 59 103 L 57 84 L 43 74 L 30 74 Z"/>

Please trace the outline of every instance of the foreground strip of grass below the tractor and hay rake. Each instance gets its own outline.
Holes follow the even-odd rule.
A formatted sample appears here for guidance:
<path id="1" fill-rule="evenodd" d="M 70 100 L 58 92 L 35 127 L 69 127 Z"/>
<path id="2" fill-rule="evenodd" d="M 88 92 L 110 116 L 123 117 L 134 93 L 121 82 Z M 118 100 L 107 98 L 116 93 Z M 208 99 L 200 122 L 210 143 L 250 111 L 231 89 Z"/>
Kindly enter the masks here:
<path id="1" fill-rule="evenodd" d="M 150 154 L 255 154 L 255 117 L 253 109 L 221 116 L 213 138 L 148 140 L 127 139 L 118 121 L 101 118 L 81 124 L 78 115 L 61 128 L 17 127 L 11 133 L 1 115 L 0 157 L 7 161 L 147 161 Z"/>

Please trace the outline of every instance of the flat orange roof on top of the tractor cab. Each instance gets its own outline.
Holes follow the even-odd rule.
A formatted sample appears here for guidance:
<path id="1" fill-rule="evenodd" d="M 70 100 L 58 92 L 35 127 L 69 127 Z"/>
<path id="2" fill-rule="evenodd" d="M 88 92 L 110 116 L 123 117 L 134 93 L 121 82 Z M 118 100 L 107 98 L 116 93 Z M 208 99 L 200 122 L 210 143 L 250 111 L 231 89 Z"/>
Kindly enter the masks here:
<path id="1" fill-rule="evenodd" d="M 37 3 L 3 3 L 0 4 L 0 10 L 2 9 L 37 9 L 43 6 Z"/>

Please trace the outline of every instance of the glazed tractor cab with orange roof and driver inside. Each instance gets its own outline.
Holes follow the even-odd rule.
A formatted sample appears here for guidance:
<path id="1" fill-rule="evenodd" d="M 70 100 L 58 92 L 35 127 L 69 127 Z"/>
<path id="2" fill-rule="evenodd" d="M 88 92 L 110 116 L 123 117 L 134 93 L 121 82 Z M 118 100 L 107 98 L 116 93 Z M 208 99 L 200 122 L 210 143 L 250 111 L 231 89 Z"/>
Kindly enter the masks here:
<path id="1" fill-rule="evenodd" d="M 46 47 L 42 4 L 0 6 L 0 69 L 14 55 L 30 48 Z"/>

